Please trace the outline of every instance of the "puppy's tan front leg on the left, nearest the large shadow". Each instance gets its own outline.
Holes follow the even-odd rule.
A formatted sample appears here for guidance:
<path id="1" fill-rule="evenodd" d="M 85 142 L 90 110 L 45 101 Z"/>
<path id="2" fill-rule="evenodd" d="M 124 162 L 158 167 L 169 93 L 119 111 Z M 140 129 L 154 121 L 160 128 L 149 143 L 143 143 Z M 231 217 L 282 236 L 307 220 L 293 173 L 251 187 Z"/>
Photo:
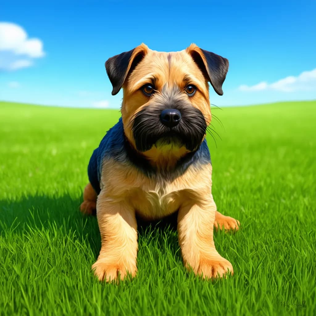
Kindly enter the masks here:
<path id="1" fill-rule="evenodd" d="M 127 201 L 118 201 L 101 191 L 97 199 L 101 250 L 92 265 L 100 281 L 123 279 L 137 272 L 137 222 L 135 210 Z"/>

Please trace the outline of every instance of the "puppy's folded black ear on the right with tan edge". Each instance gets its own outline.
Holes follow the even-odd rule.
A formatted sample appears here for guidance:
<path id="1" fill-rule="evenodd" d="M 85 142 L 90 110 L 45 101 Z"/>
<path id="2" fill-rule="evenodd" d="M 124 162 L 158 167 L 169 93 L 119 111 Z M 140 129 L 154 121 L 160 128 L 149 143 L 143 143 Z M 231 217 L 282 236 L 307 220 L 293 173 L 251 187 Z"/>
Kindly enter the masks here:
<path id="1" fill-rule="evenodd" d="M 186 52 L 193 58 L 194 62 L 204 73 L 204 76 L 208 78 L 215 92 L 223 95 L 222 85 L 228 71 L 228 59 L 205 51 L 195 44 L 191 44 L 186 49 Z"/>

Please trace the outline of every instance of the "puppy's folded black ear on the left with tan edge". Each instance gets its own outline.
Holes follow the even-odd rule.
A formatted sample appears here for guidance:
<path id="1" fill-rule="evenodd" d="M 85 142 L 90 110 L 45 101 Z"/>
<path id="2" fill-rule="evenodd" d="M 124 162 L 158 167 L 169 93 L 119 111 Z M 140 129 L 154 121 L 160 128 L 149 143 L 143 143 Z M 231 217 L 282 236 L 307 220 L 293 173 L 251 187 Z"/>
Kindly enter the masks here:
<path id="1" fill-rule="evenodd" d="M 129 52 L 124 52 L 109 58 L 105 62 L 106 73 L 112 83 L 112 95 L 118 94 L 127 75 L 147 54 L 148 47 L 141 44 Z"/>

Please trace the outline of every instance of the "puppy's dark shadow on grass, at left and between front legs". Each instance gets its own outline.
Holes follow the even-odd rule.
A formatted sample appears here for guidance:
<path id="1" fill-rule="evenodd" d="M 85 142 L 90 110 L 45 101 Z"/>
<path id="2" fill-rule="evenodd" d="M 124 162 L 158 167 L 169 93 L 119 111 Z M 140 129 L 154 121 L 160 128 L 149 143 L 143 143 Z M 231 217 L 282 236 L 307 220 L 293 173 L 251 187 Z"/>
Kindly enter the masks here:
<path id="1" fill-rule="evenodd" d="M 0 200 L 0 235 L 24 234 L 27 230 L 60 229 L 72 238 L 87 240 L 94 259 L 99 255 L 101 241 L 96 216 L 84 216 L 79 210 L 82 197 L 64 195 L 49 197 L 45 195 L 25 196 L 16 200 Z M 160 221 L 147 222 L 137 217 L 139 239 L 148 240 L 153 230 L 157 231 L 152 238 L 165 238 L 166 231 L 176 232 L 177 213 Z M 168 234 L 171 250 L 179 250 L 177 234 Z M 171 240 L 172 239 L 172 240 Z"/>

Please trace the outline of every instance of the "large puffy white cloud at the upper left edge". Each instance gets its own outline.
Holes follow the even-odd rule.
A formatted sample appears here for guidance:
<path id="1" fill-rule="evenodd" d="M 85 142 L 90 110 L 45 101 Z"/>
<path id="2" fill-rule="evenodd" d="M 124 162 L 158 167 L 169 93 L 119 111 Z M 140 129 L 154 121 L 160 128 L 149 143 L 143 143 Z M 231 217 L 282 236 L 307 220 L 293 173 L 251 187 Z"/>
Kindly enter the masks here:
<path id="1" fill-rule="evenodd" d="M 43 56 L 45 52 L 41 40 L 28 38 L 26 31 L 17 24 L 0 22 L 0 69 L 29 67 L 33 58 Z"/>

